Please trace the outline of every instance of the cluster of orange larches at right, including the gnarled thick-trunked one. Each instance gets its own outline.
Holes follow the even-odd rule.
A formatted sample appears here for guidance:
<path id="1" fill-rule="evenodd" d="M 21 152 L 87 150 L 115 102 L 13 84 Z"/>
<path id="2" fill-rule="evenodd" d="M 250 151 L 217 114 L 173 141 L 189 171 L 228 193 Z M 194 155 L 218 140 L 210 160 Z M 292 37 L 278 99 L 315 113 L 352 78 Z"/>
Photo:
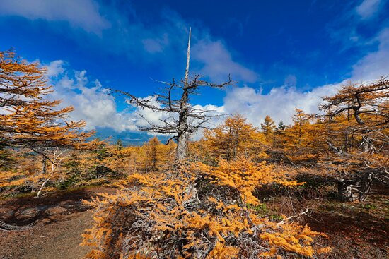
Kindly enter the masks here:
<path id="1" fill-rule="evenodd" d="M 323 98 L 323 115 L 296 109 L 279 131 L 284 161 L 339 181 L 339 197 L 365 200 L 373 179 L 389 183 L 389 80 L 343 85 Z"/>

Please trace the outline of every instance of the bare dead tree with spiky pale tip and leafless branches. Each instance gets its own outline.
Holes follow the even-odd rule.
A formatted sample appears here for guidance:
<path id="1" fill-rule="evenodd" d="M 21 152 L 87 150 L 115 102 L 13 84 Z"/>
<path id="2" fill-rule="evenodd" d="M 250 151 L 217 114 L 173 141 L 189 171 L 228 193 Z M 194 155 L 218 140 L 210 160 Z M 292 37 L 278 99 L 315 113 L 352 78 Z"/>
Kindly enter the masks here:
<path id="1" fill-rule="evenodd" d="M 190 104 L 190 95 L 198 94 L 198 90 L 201 87 L 209 88 L 223 88 L 225 85 L 231 85 L 231 78 L 228 76 L 228 81 L 225 83 L 209 83 L 206 80 L 202 80 L 200 75 L 189 76 L 189 64 L 190 64 L 190 35 L 187 44 L 187 64 L 185 69 L 185 78 L 181 80 L 175 80 L 172 82 L 163 82 L 166 87 L 163 89 L 162 94 L 153 95 L 153 99 L 145 99 L 136 97 L 129 92 L 120 90 L 112 90 L 112 92 L 118 92 L 126 97 L 129 97 L 129 104 L 134 105 L 140 109 L 149 109 L 152 112 L 161 112 L 168 114 L 167 119 L 161 119 L 160 124 L 153 124 L 145 119 L 149 126 L 141 128 L 142 131 L 149 131 L 153 133 L 161 133 L 170 135 L 168 140 L 175 140 L 177 142 L 176 158 L 178 160 L 185 159 L 187 155 L 187 143 L 190 139 L 190 135 L 199 130 L 199 128 L 205 128 L 207 122 L 215 119 L 220 115 L 211 115 L 209 112 L 201 109 L 195 109 Z M 155 99 L 154 99 L 155 98 Z"/>

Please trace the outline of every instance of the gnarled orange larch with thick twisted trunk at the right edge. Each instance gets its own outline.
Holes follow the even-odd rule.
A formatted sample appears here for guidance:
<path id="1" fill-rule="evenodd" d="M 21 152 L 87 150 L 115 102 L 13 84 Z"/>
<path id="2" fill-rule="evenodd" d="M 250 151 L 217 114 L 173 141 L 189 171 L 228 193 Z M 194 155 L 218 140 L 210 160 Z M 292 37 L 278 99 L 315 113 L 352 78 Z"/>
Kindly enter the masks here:
<path id="1" fill-rule="evenodd" d="M 339 174 L 339 196 L 366 200 L 373 179 L 389 183 L 389 80 L 349 83 L 323 99 L 323 135 L 333 161 L 329 169 Z"/>

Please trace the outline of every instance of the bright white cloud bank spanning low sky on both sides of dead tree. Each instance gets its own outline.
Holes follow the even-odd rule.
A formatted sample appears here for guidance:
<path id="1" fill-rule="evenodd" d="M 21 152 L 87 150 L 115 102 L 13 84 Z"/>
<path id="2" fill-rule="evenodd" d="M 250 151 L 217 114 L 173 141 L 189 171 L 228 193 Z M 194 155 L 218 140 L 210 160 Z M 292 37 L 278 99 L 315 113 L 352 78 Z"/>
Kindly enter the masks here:
<path id="1" fill-rule="evenodd" d="M 389 29 L 380 32 L 376 40 L 378 41 L 376 52 L 368 53 L 358 61 L 353 66 L 352 76 L 342 82 L 301 92 L 296 88 L 296 76 L 289 75 L 284 85 L 274 87 L 267 93 L 247 85 L 243 88 L 229 88 L 223 99 L 223 106 L 208 104 L 195 105 L 194 108 L 209 110 L 211 114 L 243 114 L 255 126 L 260 126 L 266 115 L 272 116 L 274 121 L 284 121 L 285 124 L 289 124 L 294 108 L 303 109 L 308 113 L 319 112 L 318 104 L 322 97 L 335 94 L 339 86 L 349 80 L 366 82 L 376 80 L 380 76 L 388 76 Z M 54 85 L 55 91 L 52 93 L 52 98 L 63 100 L 62 106 L 75 107 L 71 119 L 85 120 L 88 129 L 107 127 L 118 132 L 139 131 L 139 128 L 149 126 L 147 121 L 161 124 L 161 119 L 171 116 L 171 114 L 161 114 L 131 106 L 120 111 L 114 97 L 107 95 L 107 89 L 103 88 L 98 80 L 89 82 L 86 71 L 69 71 L 64 61 L 52 61 L 47 65 L 47 76 Z M 145 98 L 157 104 L 155 97 Z M 212 121 L 209 126 L 220 122 L 221 120 Z M 195 136 L 195 138 L 200 137 L 201 133 Z"/>

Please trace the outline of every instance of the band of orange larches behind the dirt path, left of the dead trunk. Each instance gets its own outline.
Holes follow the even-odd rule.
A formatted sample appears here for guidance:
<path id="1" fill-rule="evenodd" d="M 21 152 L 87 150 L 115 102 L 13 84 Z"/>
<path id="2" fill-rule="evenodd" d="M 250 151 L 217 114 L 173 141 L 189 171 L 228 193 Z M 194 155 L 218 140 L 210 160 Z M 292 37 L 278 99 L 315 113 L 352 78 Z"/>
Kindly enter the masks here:
<path id="1" fill-rule="evenodd" d="M 112 184 L 134 171 L 167 170 L 175 162 L 175 146 L 173 141 L 163 145 L 158 138 L 151 138 L 141 146 L 92 140 L 77 149 L 47 147 L 43 158 L 26 148 L 6 148 L 0 150 L 0 193 L 38 191 L 44 177 L 50 181 L 45 186 L 70 188 Z M 50 163 L 46 163 L 46 157 Z M 47 167 L 46 174 L 42 174 L 42 166 Z"/>

